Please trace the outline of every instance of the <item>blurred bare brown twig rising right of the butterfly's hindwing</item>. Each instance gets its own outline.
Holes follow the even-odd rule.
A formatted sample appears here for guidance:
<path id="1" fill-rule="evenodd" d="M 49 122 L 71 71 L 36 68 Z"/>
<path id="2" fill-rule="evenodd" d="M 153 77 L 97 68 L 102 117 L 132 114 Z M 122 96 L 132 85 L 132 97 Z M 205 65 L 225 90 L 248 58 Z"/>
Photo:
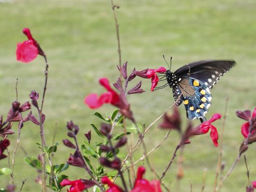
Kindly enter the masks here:
<path id="1" fill-rule="evenodd" d="M 228 102 L 229 102 L 229 98 L 227 97 L 226 105 L 225 105 L 225 111 L 224 111 L 225 115 L 223 117 L 222 127 L 221 127 L 221 134 L 220 134 L 220 139 L 219 139 L 219 159 L 218 159 L 218 163 L 217 163 L 217 167 L 216 167 L 216 174 L 215 174 L 213 192 L 216 192 L 216 186 L 217 186 L 219 171 L 220 171 L 220 167 L 221 167 L 222 152 L 223 152 L 222 151 L 222 149 L 223 149 L 223 133 L 224 133 L 225 122 L 226 122 L 226 118 L 227 118 Z"/>

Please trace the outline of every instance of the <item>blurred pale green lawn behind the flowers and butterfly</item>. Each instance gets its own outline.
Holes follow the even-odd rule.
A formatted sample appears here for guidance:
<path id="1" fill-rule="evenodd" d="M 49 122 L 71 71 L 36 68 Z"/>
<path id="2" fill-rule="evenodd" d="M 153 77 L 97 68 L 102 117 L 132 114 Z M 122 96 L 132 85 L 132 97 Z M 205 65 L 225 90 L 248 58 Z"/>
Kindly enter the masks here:
<path id="1" fill-rule="evenodd" d="M 229 97 L 228 118 L 223 143 L 225 173 L 238 155 L 243 137 L 240 125 L 243 120 L 235 115 L 236 110 L 253 109 L 256 106 L 256 1 L 255 0 L 115 0 L 120 25 L 122 61 L 128 61 L 128 71 L 165 66 L 162 55 L 173 57 L 173 70 L 182 65 L 202 59 L 235 59 L 238 65 L 225 75 L 211 91 L 212 106 L 207 117 L 224 112 L 225 100 Z M 64 162 L 72 150 L 63 146 L 66 138 L 65 123 L 73 120 L 83 133 L 90 129 L 90 122 L 99 125 L 94 110 L 83 104 L 85 95 L 101 93 L 98 85 L 102 76 L 114 83 L 119 73 L 116 31 L 110 0 L 12 0 L 0 3 L 0 115 L 6 117 L 15 98 L 15 81 L 18 77 L 18 100 L 25 102 L 31 90 L 42 94 L 44 84 L 44 61 L 39 57 L 32 63 L 16 61 L 17 42 L 26 37 L 22 29 L 28 27 L 45 50 L 49 60 L 49 83 L 46 92 L 46 136 L 48 144 L 57 130 L 55 141 L 59 142 L 55 163 Z M 137 83 L 134 80 L 134 83 Z M 129 96 L 129 101 L 139 123 L 149 125 L 173 102 L 169 88 L 150 92 L 150 82 L 143 81 L 145 93 Z M 101 112 L 112 111 L 104 106 Z M 184 107 L 180 112 L 185 117 Z M 186 118 L 183 119 L 185 126 Z M 197 125 L 199 122 L 194 121 Z M 215 125 L 220 130 L 221 122 Z M 13 126 L 17 130 L 17 125 Z M 29 156 L 36 157 L 40 141 L 38 127 L 27 123 L 22 129 L 20 146 Z M 120 132 L 120 130 L 116 130 Z M 147 149 L 158 144 L 166 132 L 155 125 L 146 136 Z M 13 151 L 17 134 L 9 136 L 10 151 Z M 92 140 L 98 140 L 94 134 Z M 134 135 L 137 140 L 137 135 Z M 207 169 L 205 192 L 212 191 L 219 148 L 215 148 L 209 134 L 192 138 L 184 149 L 184 178 L 182 192 L 200 191 L 203 172 Z M 93 142 L 93 141 L 92 141 Z M 175 132 L 155 150 L 150 159 L 160 174 L 165 169 L 178 143 Z M 256 145 L 247 151 L 251 180 L 256 180 Z M 135 159 L 139 158 L 138 153 Z M 25 192 L 40 191 L 34 182 L 36 171 L 24 163 L 25 157 L 19 148 L 15 164 L 15 183 L 20 188 L 22 179 L 27 179 Z M 142 163 L 140 163 L 142 165 Z M 0 167 L 7 166 L 7 159 Z M 165 183 L 177 191 L 176 161 L 165 177 Z M 70 167 L 70 179 L 83 177 L 83 172 Z M 147 178 L 154 178 L 149 169 Z M 1 176 L 0 187 L 8 184 L 8 177 Z M 222 192 L 245 191 L 246 168 L 241 160 L 222 187 Z"/>

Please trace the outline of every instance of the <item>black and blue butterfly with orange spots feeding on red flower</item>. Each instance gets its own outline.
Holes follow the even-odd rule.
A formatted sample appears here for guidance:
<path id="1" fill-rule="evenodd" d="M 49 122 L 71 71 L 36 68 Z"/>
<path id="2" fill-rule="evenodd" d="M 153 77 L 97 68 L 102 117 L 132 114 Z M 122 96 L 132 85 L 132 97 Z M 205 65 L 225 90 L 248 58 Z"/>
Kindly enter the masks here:
<path id="1" fill-rule="evenodd" d="M 176 105 L 184 103 L 187 118 L 200 119 L 202 123 L 211 105 L 210 89 L 235 64 L 233 60 L 202 60 L 184 65 L 174 73 L 169 69 L 162 74 L 167 83 L 156 89 L 169 85 Z"/>

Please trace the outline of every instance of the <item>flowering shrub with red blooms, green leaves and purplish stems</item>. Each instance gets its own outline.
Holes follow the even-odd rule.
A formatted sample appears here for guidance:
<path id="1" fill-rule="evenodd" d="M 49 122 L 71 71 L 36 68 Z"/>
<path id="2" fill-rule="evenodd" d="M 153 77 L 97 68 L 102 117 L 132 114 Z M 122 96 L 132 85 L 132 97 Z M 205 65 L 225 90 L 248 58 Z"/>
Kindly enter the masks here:
<path id="1" fill-rule="evenodd" d="M 113 7 L 114 9 L 114 7 Z M 165 111 L 160 117 L 145 127 L 137 123 L 137 119 L 132 112 L 133 105 L 129 103 L 127 96 L 134 94 L 141 94 L 145 92 L 141 86 L 142 81 L 138 78 L 151 79 L 151 91 L 155 90 L 156 85 L 160 81 L 159 75 L 165 75 L 165 67 L 156 67 L 156 69 L 142 69 L 136 70 L 135 68 L 128 73 L 128 62 L 123 65 L 117 66 L 119 76 L 117 76 L 116 83 L 110 84 L 108 78 L 103 77 L 99 80 L 101 86 L 107 91 L 98 95 L 97 93 L 91 93 L 84 98 L 85 106 L 90 109 L 99 109 L 104 104 L 111 104 L 114 109 L 111 113 L 107 113 L 106 117 L 99 112 L 94 112 L 93 115 L 97 117 L 99 122 L 103 121 L 100 126 L 96 126 L 91 123 L 91 130 L 86 130 L 86 133 L 82 133 L 85 136 L 85 141 L 79 143 L 77 141 L 77 135 L 81 134 L 79 125 L 75 125 L 73 121 L 69 121 L 66 124 L 67 136 L 62 142 L 65 147 L 71 148 L 73 152 L 65 162 L 53 164 L 52 156 L 57 155 L 58 143 L 52 146 L 47 145 L 44 134 L 44 124 L 47 121 L 46 115 L 43 113 L 44 99 L 46 96 L 47 87 L 47 74 L 48 74 L 48 62 L 45 52 L 40 47 L 39 43 L 32 37 L 28 28 L 23 29 L 23 33 L 27 36 L 26 41 L 17 44 L 16 57 L 18 61 L 28 63 L 37 58 L 37 55 L 41 55 L 46 62 L 45 69 L 45 85 L 43 92 L 30 91 L 29 99 L 24 104 L 20 105 L 18 102 L 18 96 L 11 104 L 11 108 L 7 113 L 7 117 L 4 120 L 3 116 L 0 117 L 0 159 L 5 159 L 9 156 L 8 147 L 10 144 L 15 146 L 13 151 L 12 163 L 6 167 L 0 167 L 0 175 L 9 175 L 9 185 L 3 187 L 1 191 L 12 192 L 15 191 L 16 184 L 14 181 L 14 164 L 15 155 L 20 142 L 21 129 L 24 123 L 31 121 L 35 126 L 39 127 L 40 143 L 37 143 L 37 147 L 40 149 L 37 157 L 26 157 L 25 162 L 35 168 L 35 182 L 40 187 L 38 191 L 52 190 L 60 192 L 63 188 L 66 188 L 68 192 L 163 192 L 164 190 L 170 191 L 170 186 L 166 185 L 163 181 L 170 166 L 177 157 L 179 150 L 184 150 L 188 144 L 193 144 L 191 138 L 196 135 L 207 134 L 210 130 L 210 138 L 215 147 L 220 147 L 219 162 L 222 158 L 222 134 L 219 136 L 218 128 L 212 125 L 213 122 L 219 120 L 222 116 L 219 113 L 215 113 L 208 121 L 205 121 L 199 125 L 193 126 L 189 121 L 186 127 L 182 126 L 182 117 L 179 114 L 175 103 Z M 137 78 L 136 78 L 137 77 Z M 137 81 L 135 86 L 130 87 L 131 81 Z M 16 87 L 17 88 L 17 87 Z M 33 89 L 32 89 L 33 90 Z M 18 94 L 17 94 L 18 95 Z M 31 104 L 30 104 L 31 103 Z M 31 108 L 37 110 L 38 115 L 32 114 Z M 169 110 L 173 108 L 173 112 Z M 26 112 L 28 111 L 29 112 Z M 24 115 L 24 112 L 27 115 Z M 249 144 L 256 142 L 256 108 L 253 112 L 237 111 L 237 116 L 246 120 L 247 122 L 241 126 L 241 133 L 244 136 L 244 140 L 239 148 L 239 155 L 235 160 L 234 165 L 230 171 L 223 178 L 220 178 L 219 185 L 217 185 L 217 178 L 219 170 L 221 169 L 220 163 L 217 166 L 216 180 L 213 191 L 216 192 L 222 186 L 223 182 L 228 178 L 233 168 L 236 166 L 241 155 L 248 150 Z M 156 150 L 162 142 L 152 150 L 147 150 L 147 146 L 144 142 L 146 138 L 147 130 L 155 124 L 155 122 L 163 117 L 163 121 L 159 127 L 162 130 L 167 130 L 168 133 L 165 136 L 167 139 L 171 130 L 178 132 L 180 136 L 180 142 L 174 147 L 173 155 L 166 160 L 166 169 L 160 174 L 155 171 L 150 163 L 148 154 Z M 224 118 L 225 120 L 225 118 Z M 223 120 L 223 121 L 224 121 Z M 12 129 L 13 122 L 18 122 L 17 142 L 10 143 L 8 137 L 10 134 L 15 134 Z M 97 121 L 98 123 L 98 121 Z M 119 128 L 117 128 L 119 127 Z M 120 129 L 122 127 L 123 129 Z M 117 129 L 116 129 L 117 128 Z M 223 127 L 224 128 L 224 127 Z M 114 132 L 114 130 L 117 130 Z M 91 131 L 94 131 L 100 138 L 100 142 L 96 142 L 91 136 Z M 223 133 L 223 129 L 222 132 Z M 137 134 L 138 140 L 133 143 L 129 135 Z M 220 142 L 218 142 L 220 139 Z M 130 143 L 128 143 L 130 142 Z M 220 146 L 219 146 L 220 145 Z M 128 151 L 126 156 L 120 155 L 120 148 L 126 146 Z M 143 155 L 140 159 L 134 162 L 133 153 L 142 146 Z M 10 158 L 10 157 L 9 157 Z M 166 158 L 168 158 L 166 156 Z M 137 168 L 137 176 L 135 177 L 135 166 L 146 159 L 146 165 L 149 167 L 149 171 L 154 175 L 154 180 L 149 181 L 144 178 L 146 168 L 139 166 Z M 95 163 L 96 162 L 96 163 Z M 79 167 L 84 171 L 84 178 L 77 178 L 76 180 L 70 180 L 68 175 L 63 172 L 72 167 Z M 182 160 L 178 161 L 179 173 L 178 179 L 183 177 Z M 130 172 L 132 174 L 130 174 Z M 128 176 L 125 174 L 128 173 Z M 247 170 L 248 181 L 249 171 Z M 75 175 L 73 175 L 75 176 Z M 116 180 L 119 180 L 119 184 L 116 184 Z M 25 184 L 25 181 L 22 183 Z M 22 189 L 21 186 L 21 189 Z M 245 185 L 246 186 L 246 185 Z M 4 188 L 5 187 L 5 188 Z M 41 188 L 41 189 L 40 189 Z M 249 186 L 246 186 L 247 192 L 253 192 L 256 188 L 256 182 L 249 182 Z M 20 189 L 20 191 L 21 191 Z"/>

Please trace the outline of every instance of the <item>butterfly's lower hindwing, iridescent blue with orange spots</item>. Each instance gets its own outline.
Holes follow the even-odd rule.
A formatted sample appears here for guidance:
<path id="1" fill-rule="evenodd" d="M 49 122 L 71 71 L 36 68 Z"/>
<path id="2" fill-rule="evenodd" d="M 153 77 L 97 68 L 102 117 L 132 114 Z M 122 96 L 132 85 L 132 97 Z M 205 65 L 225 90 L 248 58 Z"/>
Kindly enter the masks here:
<path id="1" fill-rule="evenodd" d="M 189 119 L 202 119 L 211 105 L 210 89 L 201 81 L 194 78 L 186 78 L 178 84 L 183 93 L 183 103 Z"/>

